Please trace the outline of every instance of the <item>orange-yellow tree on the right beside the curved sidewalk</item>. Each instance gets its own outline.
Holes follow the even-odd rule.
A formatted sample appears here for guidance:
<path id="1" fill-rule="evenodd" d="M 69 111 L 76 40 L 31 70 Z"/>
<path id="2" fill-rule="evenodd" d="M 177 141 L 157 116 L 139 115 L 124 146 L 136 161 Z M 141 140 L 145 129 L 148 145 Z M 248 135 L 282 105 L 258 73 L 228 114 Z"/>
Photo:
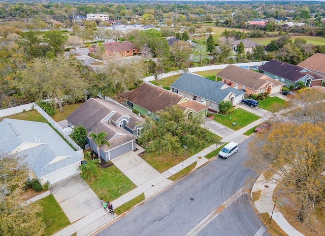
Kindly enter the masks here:
<path id="1" fill-rule="evenodd" d="M 308 220 L 324 204 L 325 123 L 275 125 L 250 142 L 249 165 L 278 173 L 288 198 L 299 208 L 297 219 Z"/>

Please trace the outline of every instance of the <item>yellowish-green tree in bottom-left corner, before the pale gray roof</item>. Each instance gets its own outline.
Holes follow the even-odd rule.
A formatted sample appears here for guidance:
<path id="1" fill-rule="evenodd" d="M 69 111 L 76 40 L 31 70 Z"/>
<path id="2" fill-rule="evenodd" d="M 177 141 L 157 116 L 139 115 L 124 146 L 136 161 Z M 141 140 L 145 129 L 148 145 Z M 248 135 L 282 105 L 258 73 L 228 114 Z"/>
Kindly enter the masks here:
<path id="1" fill-rule="evenodd" d="M 23 187 L 28 166 L 21 156 L 0 153 L 0 234 L 42 235 L 45 224 L 38 202 L 24 205 Z"/>

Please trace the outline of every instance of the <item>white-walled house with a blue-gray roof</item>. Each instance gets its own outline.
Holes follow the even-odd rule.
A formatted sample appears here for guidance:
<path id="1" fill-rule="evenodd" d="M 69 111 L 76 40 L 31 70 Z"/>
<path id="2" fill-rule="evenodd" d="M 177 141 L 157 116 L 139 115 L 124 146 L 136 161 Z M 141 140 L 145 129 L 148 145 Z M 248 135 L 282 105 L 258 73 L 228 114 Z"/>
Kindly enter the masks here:
<path id="1" fill-rule="evenodd" d="M 221 101 L 230 101 L 232 104 L 241 102 L 245 94 L 244 91 L 192 73 L 183 73 L 171 85 L 171 90 L 205 104 L 213 111 L 219 111 L 218 104 Z"/>

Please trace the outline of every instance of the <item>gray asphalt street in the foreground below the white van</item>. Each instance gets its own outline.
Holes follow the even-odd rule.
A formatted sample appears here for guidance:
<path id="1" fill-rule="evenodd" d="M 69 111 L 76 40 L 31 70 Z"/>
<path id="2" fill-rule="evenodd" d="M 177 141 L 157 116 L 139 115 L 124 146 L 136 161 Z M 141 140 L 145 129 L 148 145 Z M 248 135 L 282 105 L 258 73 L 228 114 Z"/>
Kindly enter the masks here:
<path id="1" fill-rule="evenodd" d="M 96 235 L 270 235 L 243 191 L 256 176 L 242 167 L 248 140 L 228 160 L 215 159 Z"/>

